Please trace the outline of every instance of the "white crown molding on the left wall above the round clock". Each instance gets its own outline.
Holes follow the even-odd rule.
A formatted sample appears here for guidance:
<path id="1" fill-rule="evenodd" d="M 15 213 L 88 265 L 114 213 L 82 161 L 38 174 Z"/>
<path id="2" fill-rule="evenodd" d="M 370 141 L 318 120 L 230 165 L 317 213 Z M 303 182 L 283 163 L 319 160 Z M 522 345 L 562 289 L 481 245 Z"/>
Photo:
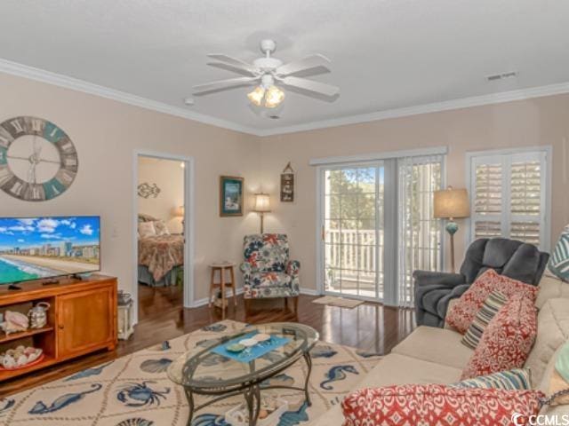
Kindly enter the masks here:
<path id="1" fill-rule="evenodd" d="M 164 102 L 142 98 L 124 91 L 116 91 L 115 89 L 100 86 L 99 84 L 85 82 L 84 80 L 68 77 L 67 75 L 52 73 L 51 71 L 45 71 L 44 69 L 36 67 L 28 67 L 27 65 L 6 59 L 0 59 L 0 72 L 25 77 L 30 80 L 36 80 L 37 82 L 53 84 L 73 91 L 82 91 L 90 95 L 116 100 L 132 106 L 140 106 L 141 108 L 156 111 L 158 113 L 170 114 L 176 117 L 193 120 L 195 122 L 203 122 L 204 124 L 210 124 L 223 129 L 235 130 L 258 136 L 257 130 L 242 126 L 236 122 L 229 122 L 210 115 L 195 113 L 181 107 L 164 104 Z"/>

